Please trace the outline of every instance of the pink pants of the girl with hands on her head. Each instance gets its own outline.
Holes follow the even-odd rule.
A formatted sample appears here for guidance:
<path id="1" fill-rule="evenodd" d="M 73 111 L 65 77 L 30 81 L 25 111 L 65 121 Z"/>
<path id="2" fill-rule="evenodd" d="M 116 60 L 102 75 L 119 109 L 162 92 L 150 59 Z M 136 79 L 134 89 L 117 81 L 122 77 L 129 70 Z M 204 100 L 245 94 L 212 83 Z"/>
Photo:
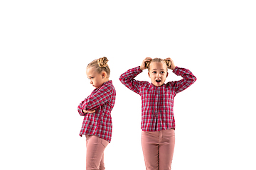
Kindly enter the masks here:
<path id="1" fill-rule="evenodd" d="M 142 131 L 142 151 L 147 170 L 169 170 L 174 155 L 175 130 Z"/>

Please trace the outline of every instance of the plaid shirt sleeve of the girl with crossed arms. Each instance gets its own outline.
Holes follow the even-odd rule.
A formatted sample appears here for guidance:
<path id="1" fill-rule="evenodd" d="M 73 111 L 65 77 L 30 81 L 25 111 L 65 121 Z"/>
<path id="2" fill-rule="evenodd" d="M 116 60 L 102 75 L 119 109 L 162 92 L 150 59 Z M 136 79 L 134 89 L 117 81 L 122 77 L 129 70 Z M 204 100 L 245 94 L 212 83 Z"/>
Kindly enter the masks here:
<path id="1" fill-rule="evenodd" d="M 96 91 L 95 94 L 94 91 L 92 91 L 92 94 L 85 98 L 85 100 L 82 101 L 82 103 L 80 103 L 80 105 L 78 106 L 78 113 L 80 115 L 85 115 L 86 113 L 83 113 L 82 110 L 95 110 L 96 108 L 102 106 L 104 103 L 109 101 L 111 99 L 112 94 L 112 89 L 107 88 L 107 86 L 103 86 L 98 91 Z"/>

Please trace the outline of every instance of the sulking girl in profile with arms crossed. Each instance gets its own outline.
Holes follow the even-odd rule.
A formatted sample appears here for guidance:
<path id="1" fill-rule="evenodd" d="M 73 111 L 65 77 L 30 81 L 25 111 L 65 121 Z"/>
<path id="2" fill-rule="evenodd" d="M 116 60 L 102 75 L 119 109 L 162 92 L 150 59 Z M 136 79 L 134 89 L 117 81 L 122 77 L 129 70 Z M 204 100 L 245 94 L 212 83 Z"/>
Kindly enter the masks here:
<path id="1" fill-rule="evenodd" d="M 105 169 L 104 150 L 112 137 L 111 111 L 116 91 L 109 80 L 107 62 L 107 57 L 102 57 L 87 65 L 87 78 L 95 89 L 78 106 L 78 113 L 84 116 L 80 136 L 86 137 L 86 169 Z"/>

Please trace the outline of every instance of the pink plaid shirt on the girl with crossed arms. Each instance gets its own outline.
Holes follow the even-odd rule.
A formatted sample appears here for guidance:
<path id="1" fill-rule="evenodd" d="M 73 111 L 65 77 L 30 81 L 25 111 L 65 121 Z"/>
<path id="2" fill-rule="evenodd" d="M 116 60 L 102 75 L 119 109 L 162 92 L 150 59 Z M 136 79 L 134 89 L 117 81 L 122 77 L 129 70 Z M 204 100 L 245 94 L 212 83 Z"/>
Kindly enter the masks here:
<path id="1" fill-rule="evenodd" d="M 96 135 L 107 142 L 111 142 L 112 137 L 112 118 L 111 111 L 114 107 L 116 91 L 112 81 L 107 81 L 98 89 L 94 89 L 92 94 L 85 98 L 78 106 L 78 113 L 85 116 L 80 130 L 82 135 Z M 95 113 L 83 113 L 93 111 Z"/>

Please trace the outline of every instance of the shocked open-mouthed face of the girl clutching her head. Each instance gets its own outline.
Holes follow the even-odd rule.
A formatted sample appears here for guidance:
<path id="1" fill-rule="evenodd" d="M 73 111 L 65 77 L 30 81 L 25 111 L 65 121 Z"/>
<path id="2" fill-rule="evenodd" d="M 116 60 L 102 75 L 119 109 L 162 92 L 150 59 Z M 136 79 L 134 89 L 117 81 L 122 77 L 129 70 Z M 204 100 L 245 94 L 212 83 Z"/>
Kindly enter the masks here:
<path id="1" fill-rule="evenodd" d="M 167 65 L 165 62 L 151 62 L 149 65 L 149 78 L 154 86 L 161 86 L 168 77 Z"/>

